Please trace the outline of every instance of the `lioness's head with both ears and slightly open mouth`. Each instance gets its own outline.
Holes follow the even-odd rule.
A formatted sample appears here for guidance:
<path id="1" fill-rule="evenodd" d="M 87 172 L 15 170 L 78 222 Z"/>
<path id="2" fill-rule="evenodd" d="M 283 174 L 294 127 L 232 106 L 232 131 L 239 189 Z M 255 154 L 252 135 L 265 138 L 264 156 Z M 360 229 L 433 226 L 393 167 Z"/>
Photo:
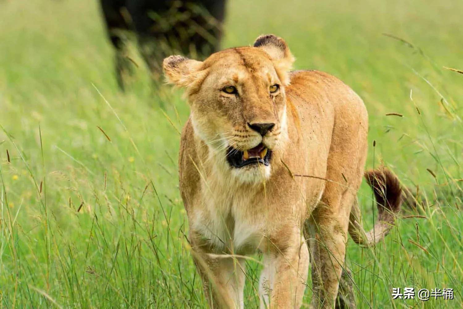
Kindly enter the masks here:
<path id="1" fill-rule="evenodd" d="M 186 88 L 194 133 L 221 169 L 246 182 L 267 179 L 287 140 L 285 86 L 294 58 L 285 41 L 257 38 L 253 47 L 205 61 L 164 59 L 167 80 Z"/>

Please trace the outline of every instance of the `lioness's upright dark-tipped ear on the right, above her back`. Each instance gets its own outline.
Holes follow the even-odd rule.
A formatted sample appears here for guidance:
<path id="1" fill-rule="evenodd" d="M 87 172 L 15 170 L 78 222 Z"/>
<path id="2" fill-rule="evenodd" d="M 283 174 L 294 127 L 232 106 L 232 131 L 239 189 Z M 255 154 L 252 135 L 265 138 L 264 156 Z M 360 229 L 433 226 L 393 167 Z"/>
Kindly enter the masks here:
<path id="1" fill-rule="evenodd" d="M 254 42 L 254 47 L 262 49 L 272 58 L 277 73 L 283 84 L 289 84 L 288 72 L 292 69 L 294 56 L 286 42 L 273 34 L 261 35 Z"/>

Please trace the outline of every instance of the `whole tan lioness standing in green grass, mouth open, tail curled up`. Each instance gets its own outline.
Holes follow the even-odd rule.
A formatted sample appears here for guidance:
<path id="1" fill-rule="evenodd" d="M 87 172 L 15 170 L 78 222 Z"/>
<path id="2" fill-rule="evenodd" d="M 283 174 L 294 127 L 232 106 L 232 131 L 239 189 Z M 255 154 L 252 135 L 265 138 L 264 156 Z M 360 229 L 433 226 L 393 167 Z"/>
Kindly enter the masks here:
<path id="1" fill-rule="evenodd" d="M 311 305 L 332 308 L 347 232 L 372 245 L 400 207 L 395 176 L 370 171 L 380 217 L 374 230 L 363 231 L 357 190 L 367 155 L 365 106 L 336 77 L 290 71 L 293 61 L 283 39 L 264 35 L 203 62 L 163 62 L 191 108 L 181 135 L 180 190 L 213 308 L 243 308 L 244 260 L 256 251 L 264 264 L 261 307 L 301 306 L 310 254 Z"/>

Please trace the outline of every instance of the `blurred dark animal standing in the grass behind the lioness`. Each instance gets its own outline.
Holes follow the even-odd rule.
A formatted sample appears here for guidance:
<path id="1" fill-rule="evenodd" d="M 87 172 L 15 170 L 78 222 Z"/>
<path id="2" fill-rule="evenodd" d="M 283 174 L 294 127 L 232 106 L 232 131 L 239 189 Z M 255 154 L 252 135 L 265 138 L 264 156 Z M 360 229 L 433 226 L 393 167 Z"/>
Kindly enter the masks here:
<path id="1" fill-rule="evenodd" d="M 219 49 L 225 0 L 100 0 L 107 31 L 116 49 L 116 77 L 133 69 L 125 35 L 133 32 L 139 51 L 156 80 L 162 60 L 171 54 L 204 58 Z"/>

